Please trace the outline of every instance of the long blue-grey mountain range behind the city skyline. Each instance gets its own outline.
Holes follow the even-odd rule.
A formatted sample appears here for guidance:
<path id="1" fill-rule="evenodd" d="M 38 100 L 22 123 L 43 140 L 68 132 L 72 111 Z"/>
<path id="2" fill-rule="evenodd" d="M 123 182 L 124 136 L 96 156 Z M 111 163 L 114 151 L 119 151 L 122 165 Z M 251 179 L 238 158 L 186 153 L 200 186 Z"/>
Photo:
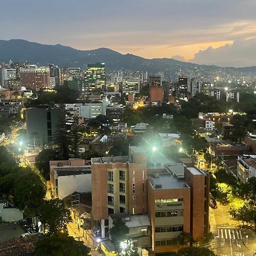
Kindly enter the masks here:
<path id="1" fill-rule="evenodd" d="M 165 75 L 174 75 L 180 69 L 204 71 L 225 70 L 244 73 L 256 73 L 256 67 L 217 67 L 214 65 L 197 65 L 174 59 L 145 59 L 130 53 L 122 54 L 112 49 L 99 48 L 82 51 L 61 44 L 48 45 L 28 42 L 27 40 L 11 39 L 0 40 L 0 61 L 9 63 L 28 61 L 31 64 L 45 65 L 53 63 L 59 67 L 86 68 L 88 63 L 105 63 L 107 71 L 126 69 L 131 71 L 148 71 L 150 73 L 164 72 Z"/>

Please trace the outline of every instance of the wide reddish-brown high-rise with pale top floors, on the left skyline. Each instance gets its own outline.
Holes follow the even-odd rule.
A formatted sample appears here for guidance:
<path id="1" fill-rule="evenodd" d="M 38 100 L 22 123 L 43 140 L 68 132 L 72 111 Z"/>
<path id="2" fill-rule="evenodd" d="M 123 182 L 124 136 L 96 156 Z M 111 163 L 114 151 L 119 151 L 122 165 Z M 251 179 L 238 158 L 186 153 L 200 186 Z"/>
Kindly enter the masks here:
<path id="1" fill-rule="evenodd" d="M 19 69 L 20 85 L 26 89 L 39 90 L 50 88 L 49 67 L 37 67 L 27 65 L 26 68 Z"/>

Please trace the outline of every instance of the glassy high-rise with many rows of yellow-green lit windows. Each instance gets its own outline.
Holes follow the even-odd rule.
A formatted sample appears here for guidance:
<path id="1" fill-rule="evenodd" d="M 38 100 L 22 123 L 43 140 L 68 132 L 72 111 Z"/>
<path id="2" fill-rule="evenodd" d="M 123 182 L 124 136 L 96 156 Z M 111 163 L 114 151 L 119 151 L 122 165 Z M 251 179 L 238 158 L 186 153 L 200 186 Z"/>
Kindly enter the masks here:
<path id="1" fill-rule="evenodd" d="M 105 63 L 88 64 L 85 71 L 85 91 L 105 88 Z"/>

